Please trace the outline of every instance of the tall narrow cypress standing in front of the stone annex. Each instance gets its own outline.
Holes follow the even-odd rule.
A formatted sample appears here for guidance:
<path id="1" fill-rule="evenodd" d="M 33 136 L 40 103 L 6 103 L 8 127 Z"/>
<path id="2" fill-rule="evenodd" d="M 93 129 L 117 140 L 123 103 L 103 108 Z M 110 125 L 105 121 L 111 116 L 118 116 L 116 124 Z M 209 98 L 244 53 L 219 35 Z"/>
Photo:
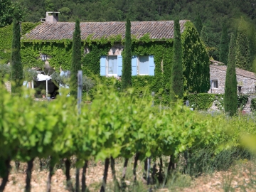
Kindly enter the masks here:
<path id="1" fill-rule="evenodd" d="M 230 116 L 236 114 L 238 110 L 237 84 L 238 82 L 235 75 L 235 35 L 232 34 L 230 38 L 224 94 L 224 110 L 229 113 Z"/>

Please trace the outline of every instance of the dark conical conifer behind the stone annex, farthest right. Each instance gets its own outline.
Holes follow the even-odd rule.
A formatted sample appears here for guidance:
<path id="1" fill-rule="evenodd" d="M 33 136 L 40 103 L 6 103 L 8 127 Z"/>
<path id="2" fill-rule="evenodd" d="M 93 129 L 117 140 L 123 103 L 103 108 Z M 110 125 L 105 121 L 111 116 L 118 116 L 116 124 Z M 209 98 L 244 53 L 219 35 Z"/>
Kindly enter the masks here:
<path id="1" fill-rule="evenodd" d="M 244 70 L 251 70 L 250 58 L 249 39 L 246 28 L 243 27 L 242 21 L 240 21 L 236 38 L 235 66 Z"/>

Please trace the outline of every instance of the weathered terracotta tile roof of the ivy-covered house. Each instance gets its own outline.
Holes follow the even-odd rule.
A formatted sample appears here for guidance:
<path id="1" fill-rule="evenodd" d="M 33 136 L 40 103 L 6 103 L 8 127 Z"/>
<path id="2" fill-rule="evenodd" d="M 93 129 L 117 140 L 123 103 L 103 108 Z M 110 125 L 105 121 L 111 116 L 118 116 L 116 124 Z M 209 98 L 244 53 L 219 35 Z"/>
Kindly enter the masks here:
<path id="1" fill-rule="evenodd" d="M 188 20 L 181 20 L 181 33 Z M 126 22 L 82 22 L 80 23 L 81 38 L 85 39 L 92 35 L 92 39 L 125 35 Z M 28 40 L 60 40 L 72 39 L 75 23 L 58 22 L 42 23 L 36 26 L 30 33 L 26 34 Z M 149 33 L 151 39 L 174 38 L 174 21 L 132 21 L 131 33 L 137 38 Z"/>

